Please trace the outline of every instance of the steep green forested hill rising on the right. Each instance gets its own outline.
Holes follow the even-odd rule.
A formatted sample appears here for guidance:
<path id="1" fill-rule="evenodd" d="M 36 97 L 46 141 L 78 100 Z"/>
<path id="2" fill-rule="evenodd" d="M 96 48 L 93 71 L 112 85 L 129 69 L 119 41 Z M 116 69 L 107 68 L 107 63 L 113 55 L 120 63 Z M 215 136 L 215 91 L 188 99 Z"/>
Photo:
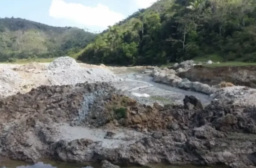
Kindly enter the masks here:
<path id="1" fill-rule="evenodd" d="M 110 27 L 81 61 L 164 64 L 197 56 L 256 61 L 255 0 L 161 0 Z"/>

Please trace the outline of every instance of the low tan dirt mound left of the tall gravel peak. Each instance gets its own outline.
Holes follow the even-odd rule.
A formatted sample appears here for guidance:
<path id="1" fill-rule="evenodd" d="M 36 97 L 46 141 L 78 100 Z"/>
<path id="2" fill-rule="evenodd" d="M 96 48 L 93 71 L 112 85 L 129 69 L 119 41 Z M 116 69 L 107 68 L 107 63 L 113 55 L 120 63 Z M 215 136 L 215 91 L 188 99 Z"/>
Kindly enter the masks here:
<path id="1" fill-rule="evenodd" d="M 35 70 L 46 70 L 45 65 L 39 64 L 37 62 L 30 62 L 29 64 L 20 65 L 18 67 L 12 68 L 15 71 L 25 71 L 25 72 L 33 72 Z"/>

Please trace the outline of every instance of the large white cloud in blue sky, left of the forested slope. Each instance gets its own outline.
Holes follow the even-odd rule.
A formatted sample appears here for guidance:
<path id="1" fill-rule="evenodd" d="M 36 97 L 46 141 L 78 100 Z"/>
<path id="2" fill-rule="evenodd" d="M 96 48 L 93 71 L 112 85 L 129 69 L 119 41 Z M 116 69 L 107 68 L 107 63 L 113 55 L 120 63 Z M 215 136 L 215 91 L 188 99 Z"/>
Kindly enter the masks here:
<path id="1" fill-rule="evenodd" d="M 56 19 L 68 19 L 87 26 L 112 26 L 125 18 L 123 14 L 111 11 L 107 6 L 96 7 L 78 3 L 66 3 L 63 0 L 52 0 L 49 15 Z"/>

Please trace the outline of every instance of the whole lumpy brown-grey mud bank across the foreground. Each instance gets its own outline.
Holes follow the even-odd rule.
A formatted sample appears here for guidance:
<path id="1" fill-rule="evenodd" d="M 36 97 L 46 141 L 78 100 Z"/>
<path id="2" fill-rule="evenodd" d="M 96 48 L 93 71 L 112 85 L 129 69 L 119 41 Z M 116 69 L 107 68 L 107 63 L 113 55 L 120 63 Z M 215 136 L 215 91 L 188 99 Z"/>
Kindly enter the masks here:
<path id="1" fill-rule="evenodd" d="M 35 163 L 256 165 L 256 108 L 139 104 L 108 83 L 42 85 L 0 101 L 0 156 Z"/>

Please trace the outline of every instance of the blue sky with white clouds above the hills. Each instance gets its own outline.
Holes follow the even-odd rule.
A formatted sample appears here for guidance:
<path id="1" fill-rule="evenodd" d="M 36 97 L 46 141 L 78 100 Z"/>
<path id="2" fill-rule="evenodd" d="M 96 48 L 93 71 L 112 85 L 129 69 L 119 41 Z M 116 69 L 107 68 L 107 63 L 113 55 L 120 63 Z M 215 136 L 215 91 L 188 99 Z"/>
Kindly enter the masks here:
<path id="1" fill-rule="evenodd" d="M 103 31 L 157 0 L 0 0 L 0 17 Z"/>

